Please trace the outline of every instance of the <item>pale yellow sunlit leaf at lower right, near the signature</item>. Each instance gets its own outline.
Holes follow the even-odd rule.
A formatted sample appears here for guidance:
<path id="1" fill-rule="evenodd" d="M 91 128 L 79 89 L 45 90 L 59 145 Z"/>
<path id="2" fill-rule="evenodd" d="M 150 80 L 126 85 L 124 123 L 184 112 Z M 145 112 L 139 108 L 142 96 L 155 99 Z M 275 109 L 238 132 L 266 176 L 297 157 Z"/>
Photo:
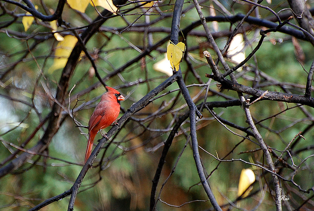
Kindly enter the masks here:
<path id="1" fill-rule="evenodd" d="M 237 195 L 245 198 L 249 195 L 250 191 L 253 187 L 249 188 L 255 181 L 255 174 L 252 169 L 242 169 L 240 179 L 239 179 L 239 187 L 237 191 Z M 246 190 L 247 189 L 247 190 Z M 245 191 L 246 190 L 246 191 Z M 245 193 L 244 193 L 245 191 Z"/>

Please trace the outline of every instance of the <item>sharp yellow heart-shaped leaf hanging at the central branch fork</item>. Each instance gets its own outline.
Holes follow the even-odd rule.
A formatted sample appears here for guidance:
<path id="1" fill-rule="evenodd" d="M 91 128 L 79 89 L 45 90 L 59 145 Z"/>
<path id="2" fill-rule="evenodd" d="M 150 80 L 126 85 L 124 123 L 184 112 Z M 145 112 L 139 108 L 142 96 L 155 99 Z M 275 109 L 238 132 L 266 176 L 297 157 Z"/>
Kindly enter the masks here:
<path id="1" fill-rule="evenodd" d="M 170 65 L 173 70 L 178 71 L 179 65 L 183 57 L 183 53 L 185 51 L 185 45 L 183 42 L 174 45 L 171 41 L 169 46 L 167 47 L 167 58 L 170 61 Z"/>

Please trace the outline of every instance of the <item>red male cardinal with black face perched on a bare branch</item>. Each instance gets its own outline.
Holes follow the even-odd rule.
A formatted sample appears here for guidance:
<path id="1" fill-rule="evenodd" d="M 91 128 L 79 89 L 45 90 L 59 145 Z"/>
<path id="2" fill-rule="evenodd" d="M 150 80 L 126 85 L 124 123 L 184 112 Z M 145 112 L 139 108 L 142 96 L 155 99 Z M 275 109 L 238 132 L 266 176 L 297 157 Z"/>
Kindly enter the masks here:
<path id="1" fill-rule="evenodd" d="M 125 100 L 124 96 L 117 90 L 107 86 L 105 88 L 107 92 L 103 94 L 101 101 L 96 106 L 88 122 L 88 144 L 85 163 L 92 153 L 96 134 L 116 120 L 120 113 L 120 100 Z"/>

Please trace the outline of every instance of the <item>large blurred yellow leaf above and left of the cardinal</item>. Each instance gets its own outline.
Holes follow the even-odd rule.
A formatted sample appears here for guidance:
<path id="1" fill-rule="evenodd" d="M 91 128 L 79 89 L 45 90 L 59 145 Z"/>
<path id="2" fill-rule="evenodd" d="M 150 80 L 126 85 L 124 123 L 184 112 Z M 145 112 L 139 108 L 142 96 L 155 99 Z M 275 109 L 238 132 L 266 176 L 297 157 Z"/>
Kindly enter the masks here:
<path id="1" fill-rule="evenodd" d="M 67 35 L 64 40 L 57 44 L 54 52 L 53 65 L 49 68 L 48 72 L 52 73 L 54 70 L 64 68 L 71 51 L 78 42 L 78 38 L 73 35 Z"/>

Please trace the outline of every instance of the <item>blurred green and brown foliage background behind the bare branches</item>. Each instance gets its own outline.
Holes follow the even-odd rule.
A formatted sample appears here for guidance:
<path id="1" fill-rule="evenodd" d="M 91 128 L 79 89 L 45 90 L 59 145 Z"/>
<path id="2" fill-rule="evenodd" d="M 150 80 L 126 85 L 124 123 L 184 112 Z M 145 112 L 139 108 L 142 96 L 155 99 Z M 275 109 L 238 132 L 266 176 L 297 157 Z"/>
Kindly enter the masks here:
<path id="1" fill-rule="evenodd" d="M 48 8 L 53 9 L 55 9 L 57 4 L 56 0 L 44 0 L 43 2 L 45 2 Z M 25 13 L 24 10 L 12 4 L 4 3 L 3 1 L 0 3 L 8 10 L 15 10 L 16 14 Z M 147 47 L 148 36 L 152 36 L 153 44 L 155 44 L 168 35 L 168 33 L 160 31 L 162 28 L 170 29 L 171 27 L 173 3 L 173 0 L 157 2 L 146 13 L 147 16 L 142 14 L 149 7 L 142 7 L 132 10 L 128 15 L 118 15 L 105 22 L 103 28 L 86 45 L 87 50 L 95 59 L 98 71 L 102 77 L 105 77 L 107 73 L 118 69 L 137 56 L 139 52 L 134 48 L 137 47 L 143 50 Z M 221 3 L 232 15 L 236 13 L 246 14 L 251 7 L 248 4 L 234 3 L 232 0 L 222 1 Z M 312 1 L 308 3 L 310 6 L 313 6 Z M 39 5 L 38 10 L 44 12 L 43 7 L 40 6 L 41 1 L 34 0 L 33 4 Z M 138 4 L 130 3 L 125 5 L 120 8 L 120 12 Z M 266 2 L 264 4 L 276 12 L 288 7 L 286 1 L 279 0 L 273 0 L 271 4 Z M 184 9 L 187 11 L 182 17 L 181 29 L 199 20 L 196 10 L 191 5 L 192 2 L 190 1 L 186 1 L 184 4 L 183 11 Z M 205 16 L 210 14 L 209 7 L 216 9 L 216 15 L 228 15 L 215 1 L 206 1 L 201 5 L 203 6 Z M 7 11 L 4 12 L 4 7 L 2 7 L 1 23 L 12 20 L 12 16 Z M 190 7 L 191 9 L 189 9 Z M 101 7 L 97 8 L 100 11 L 102 10 Z M 259 13 L 260 18 L 271 17 L 268 10 L 260 8 Z M 97 12 L 91 5 L 87 7 L 85 14 L 80 14 L 66 4 L 62 19 L 69 23 L 71 27 L 76 28 L 89 24 L 89 21 L 96 18 L 97 15 Z M 252 16 L 255 15 L 255 13 L 252 14 Z M 136 24 L 144 24 L 145 18 L 149 18 L 150 22 L 157 21 L 151 25 L 151 28 L 147 28 L 147 30 L 156 29 L 156 32 L 145 34 L 140 27 L 136 27 Z M 133 22 L 135 22 L 135 26 L 130 27 L 130 30 L 127 29 L 121 34 L 119 34 L 119 31 L 116 31 L 127 27 L 128 23 L 131 24 Z M 294 20 L 291 22 L 295 23 Z M 214 24 L 208 24 L 214 32 L 216 30 Z M 228 31 L 229 29 L 234 29 L 234 27 L 230 23 L 218 23 L 217 29 L 218 31 Z M 59 30 L 64 30 L 60 32 L 63 36 L 72 33 L 64 27 L 59 27 Z M 77 28 L 76 30 L 78 33 L 81 33 L 84 28 Z M 246 55 L 251 52 L 260 39 L 259 30 L 261 28 L 252 26 L 250 30 L 245 32 Z M 204 32 L 202 26 L 193 29 L 193 31 Z M 23 36 L 24 38 L 22 38 Z M 48 23 L 36 20 L 30 29 L 25 32 L 22 17 L 18 17 L 15 23 L 8 27 L 0 28 L 0 40 L 0 161 L 4 161 L 16 150 L 9 143 L 20 145 L 26 141 L 38 124 L 51 111 L 53 100 L 49 95 L 54 96 L 62 70 L 48 71 L 53 64 L 53 52 L 57 44 Z M 227 40 L 228 37 L 223 36 L 217 38 L 216 42 L 222 49 Z M 188 59 L 204 84 L 208 81 L 205 74 L 211 73 L 211 70 L 202 55 L 203 51 L 209 50 L 213 57 L 216 58 L 214 51 L 210 49 L 206 41 L 206 37 L 194 35 L 187 35 L 185 40 L 183 40 L 187 46 Z M 262 47 L 247 62 L 245 69 L 242 72 L 235 73 L 238 83 L 253 86 L 254 80 L 259 75 L 261 80 L 256 87 L 257 89 L 304 94 L 307 72 L 310 70 L 313 61 L 313 46 L 306 41 L 298 40 L 297 42 L 297 44 L 293 44 L 291 37 L 283 33 L 267 34 Z M 34 47 L 32 48 L 32 46 Z M 146 56 L 123 70 L 120 74 L 110 78 L 109 81 L 106 81 L 106 84 L 109 86 L 118 88 L 121 86 L 119 91 L 124 96 L 128 96 L 128 99 L 121 103 L 122 110 L 125 111 L 130 108 L 132 103 L 137 102 L 167 78 L 166 74 L 153 68 L 154 64 L 164 59 L 166 47 L 167 43 L 164 43 L 157 50 L 154 50 L 150 56 Z M 300 60 L 300 57 L 295 54 L 297 47 L 302 49 L 305 56 L 304 60 L 300 62 L 297 60 Z M 30 49 L 30 52 L 28 49 Z M 228 62 L 231 67 L 234 65 L 229 60 Z M 204 84 L 198 86 L 198 84 L 202 83 L 196 80 L 184 59 L 181 63 L 181 69 L 186 85 L 195 84 L 195 86 L 189 87 L 189 92 L 192 98 L 195 97 L 195 104 L 200 104 L 204 101 L 204 95 L 206 94 L 204 90 L 202 91 Z M 257 72 L 267 74 L 278 81 L 278 84 L 275 84 L 269 78 L 266 80 L 261 74 L 256 74 Z M 139 80 L 139 83 L 135 85 L 128 84 L 137 80 Z M 95 97 L 100 97 L 105 92 L 105 89 L 100 85 L 96 86 L 96 89 L 88 90 L 89 87 L 97 82 L 98 79 L 91 70 L 90 61 L 88 61 L 86 56 L 82 56 L 71 78 L 69 91 L 74 86 L 75 88 L 70 95 L 70 110 L 75 107 L 76 103 L 78 103 L 76 105 L 76 108 L 78 108 L 83 103 L 89 102 Z M 177 88 L 178 85 L 174 83 L 161 94 Z M 213 81 L 210 84 L 210 89 L 221 94 L 209 92 L 207 101 L 237 99 L 237 94 L 234 91 L 219 90 Z M 81 92 L 84 92 L 84 94 L 81 94 Z M 77 101 L 77 94 L 80 94 L 78 99 L 81 101 Z M 226 95 L 229 98 L 225 97 Z M 75 113 L 76 120 L 82 125 L 87 125 L 95 105 L 96 102 L 90 102 L 88 105 L 81 107 Z M 304 106 L 302 110 L 301 107 L 292 108 L 294 106 L 296 104 L 263 100 L 250 107 L 255 121 L 262 120 L 257 125 L 258 129 L 266 144 L 272 147 L 272 149 L 284 150 L 288 142 L 300 131 L 304 131 L 305 128 L 309 128 L 304 135 L 306 140 L 299 141 L 293 152 L 307 146 L 313 146 L 313 108 Z M 287 108 L 291 109 L 286 110 Z M 308 116 L 304 110 L 308 112 Z M 136 113 L 119 131 L 115 137 L 114 144 L 108 147 L 105 155 L 104 150 L 98 155 L 96 163 L 100 161 L 103 155 L 105 156 L 102 163 L 103 166 L 101 169 L 100 167 L 95 167 L 88 171 L 79 189 L 80 192 L 75 202 L 75 210 L 149 210 L 151 181 L 154 178 L 157 163 L 162 152 L 162 141 L 167 139 L 177 117 L 186 111 L 187 106 L 184 99 L 176 91 L 154 100 L 153 103 Z M 157 114 L 154 114 L 156 112 Z M 240 106 L 214 108 L 214 112 L 219 117 L 239 126 L 248 127 L 245 122 L 244 112 Z M 226 130 L 206 109 L 202 111 L 202 114 L 204 118 L 198 120 L 197 135 L 199 145 L 203 149 L 214 156 L 218 156 L 220 159 L 229 153 L 225 159 L 242 159 L 255 164 L 264 162 L 262 151 L 259 150 L 258 145 L 245 140 L 235 147 L 237 143 L 242 141 L 242 138 Z M 245 136 L 245 133 L 240 130 L 230 126 L 228 128 L 235 133 Z M 39 129 L 26 148 L 30 148 L 39 141 L 44 133 L 44 129 L 49 129 L 47 128 L 47 123 L 44 124 L 43 128 Z M 108 129 L 105 129 L 105 131 Z M 0 210 L 28 210 L 42 201 L 71 188 L 82 168 L 79 164 L 83 162 L 86 148 L 86 135 L 82 135 L 81 132 L 87 133 L 87 130 L 81 129 L 80 131 L 73 119 L 66 117 L 49 146 L 48 158 L 37 155 L 32 161 L 28 161 L 27 164 L 23 165 L 22 168 L 2 177 L 0 179 Z M 160 199 L 164 203 L 159 201 L 157 210 L 203 211 L 211 207 L 207 200 L 207 195 L 199 183 L 190 142 L 186 141 L 189 140 L 188 134 L 189 123 L 185 121 L 175 137 L 166 158 L 157 194 L 159 194 L 161 185 L 166 181 L 169 174 L 172 170 L 174 171 L 162 187 Z M 99 134 L 97 138 L 100 139 L 101 135 Z M 182 151 L 183 153 L 181 154 Z M 280 155 L 281 151 L 274 150 L 277 155 Z M 257 210 L 275 210 L 274 201 L 269 192 L 270 189 L 265 187 L 266 182 L 272 187 L 269 174 L 262 175 L 260 168 L 240 161 L 219 163 L 207 152 L 200 149 L 206 172 L 211 174 L 209 184 L 220 205 L 228 203 L 226 198 L 235 200 L 241 170 L 243 168 L 252 168 L 257 179 L 253 185 L 252 192 L 264 189 L 264 193 L 258 192 L 242 200 L 237 205 L 250 210 L 257 206 L 261 198 L 264 197 Z M 312 149 L 292 154 L 294 164 L 301 164 L 300 170 L 296 172 L 293 180 L 302 189 L 314 186 L 313 158 L 310 157 L 305 162 L 302 162 L 311 155 L 313 155 Z M 287 153 L 284 154 L 285 156 L 287 156 Z M 33 162 L 37 159 L 38 161 L 33 165 Z M 275 158 L 273 160 L 275 161 Z M 178 163 L 176 163 L 177 161 Z M 288 158 L 286 161 L 288 164 L 292 164 L 291 159 Z M 1 167 L 4 166 L 3 163 L 1 165 Z M 291 179 L 293 174 L 291 169 L 281 166 L 279 171 L 285 179 Z M 294 209 L 301 205 L 303 200 L 313 195 L 313 191 L 311 193 L 303 193 L 289 182 L 282 181 L 281 186 L 283 195 L 288 194 L 290 197 L 288 203 Z M 159 196 L 157 195 L 157 197 Z M 190 201 L 194 202 L 181 206 Z M 66 197 L 48 205 L 42 210 L 66 210 L 68 202 L 69 197 Z M 175 208 L 175 206 L 179 207 Z M 306 207 L 307 209 L 313 209 L 313 201 L 309 200 Z"/>

